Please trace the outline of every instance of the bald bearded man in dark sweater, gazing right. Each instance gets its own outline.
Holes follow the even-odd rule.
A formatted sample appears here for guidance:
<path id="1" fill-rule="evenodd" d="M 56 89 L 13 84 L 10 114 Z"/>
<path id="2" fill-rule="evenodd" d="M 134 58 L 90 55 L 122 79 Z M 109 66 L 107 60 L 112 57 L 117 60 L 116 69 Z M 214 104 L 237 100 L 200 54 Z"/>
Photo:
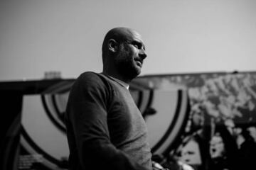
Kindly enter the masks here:
<path id="1" fill-rule="evenodd" d="M 103 72 L 80 74 L 68 98 L 69 169 L 152 169 L 146 124 L 129 93 L 145 58 L 142 36 L 135 30 L 107 33 Z"/>

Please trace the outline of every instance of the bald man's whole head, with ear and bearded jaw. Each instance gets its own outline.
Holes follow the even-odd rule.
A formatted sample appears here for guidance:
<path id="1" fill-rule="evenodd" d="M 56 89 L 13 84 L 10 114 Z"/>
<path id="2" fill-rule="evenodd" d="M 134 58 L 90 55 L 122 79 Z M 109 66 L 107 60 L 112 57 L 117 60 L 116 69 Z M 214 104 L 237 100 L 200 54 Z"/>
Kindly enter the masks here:
<path id="1" fill-rule="evenodd" d="M 142 36 L 130 28 L 113 28 L 102 44 L 103 72 L 122 81 L 132 81 L 146 58 Z"/>

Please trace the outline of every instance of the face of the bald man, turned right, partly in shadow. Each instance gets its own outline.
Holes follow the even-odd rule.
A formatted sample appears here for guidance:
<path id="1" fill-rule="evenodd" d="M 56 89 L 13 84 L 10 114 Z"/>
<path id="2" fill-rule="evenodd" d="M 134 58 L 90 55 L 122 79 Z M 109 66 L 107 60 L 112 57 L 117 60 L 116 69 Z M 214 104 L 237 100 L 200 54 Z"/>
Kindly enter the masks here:
<path id="1" fill-rule="evenodd" d="M 127 41 L 121 42 L 115 58 L 118 72 L 128 79 L 134 79 L 141 73 L 146 58 L 145 46 L 138 33 L 132 33 Z"/>

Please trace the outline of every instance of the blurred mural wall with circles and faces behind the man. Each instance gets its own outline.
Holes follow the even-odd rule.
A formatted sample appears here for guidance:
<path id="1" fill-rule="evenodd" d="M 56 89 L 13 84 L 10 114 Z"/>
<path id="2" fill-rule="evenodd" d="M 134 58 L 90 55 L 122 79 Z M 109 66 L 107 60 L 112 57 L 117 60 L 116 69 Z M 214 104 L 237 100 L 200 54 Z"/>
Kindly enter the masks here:
<path id="1" fill-rule="evenodd" d="M 0 169 L 67 169 L 63 113 L 73 81 L 0 83 Z M 154 162 L 169 169 L 254 166 L 256 72 L 144 76 L 130 91 Z"/>

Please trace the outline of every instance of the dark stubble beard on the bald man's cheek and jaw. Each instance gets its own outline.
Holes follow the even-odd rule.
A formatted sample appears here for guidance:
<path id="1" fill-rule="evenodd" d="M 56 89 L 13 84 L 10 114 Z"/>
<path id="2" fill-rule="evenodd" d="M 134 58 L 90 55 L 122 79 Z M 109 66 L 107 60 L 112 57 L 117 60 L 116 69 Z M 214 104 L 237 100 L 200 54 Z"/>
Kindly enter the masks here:
<path id="1" fill-rule="evenodd" d="M 122 76 L 126 79 L 134 79 L 140 73 L 141 69 L 136 67 L 134 63 L 134 52 L 127 47 L 127 45 L 120 45 L 119 52 L 115 59 L 115 65 L 117 67 L 117 71 L 122 74 Z"/>

